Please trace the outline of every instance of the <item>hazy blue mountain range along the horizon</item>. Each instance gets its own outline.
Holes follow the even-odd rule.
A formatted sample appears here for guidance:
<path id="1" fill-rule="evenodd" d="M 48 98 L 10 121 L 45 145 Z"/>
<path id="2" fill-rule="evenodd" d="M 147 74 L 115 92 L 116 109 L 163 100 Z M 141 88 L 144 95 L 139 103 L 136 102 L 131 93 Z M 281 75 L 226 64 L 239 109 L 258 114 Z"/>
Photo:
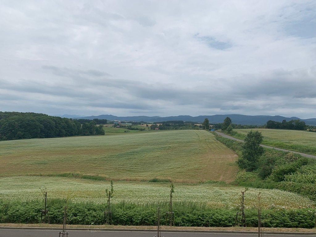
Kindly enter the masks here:
<path id="1" fill-rule="evenodd" d="M 210 123 L 222 123 L 226 117 L 229 117 L 234 124 L 242 125 L 264 125 L 267 121 L 273 120 L 277 122 L 282 122 L 283 119 L 289 121 L 292 119 L 300 119 L 297 117 L 283 117 L 283 116 L 269 116 L 269 115 L 242 115 L 242 114 L 216 114 L 216 115 L 200 115 L 192 117 L 189 115 L 179 115 L 170 117 L 159 117 L 159 116 L 128 116 L 128 117 L 118 117 L 111 114 L 102 114 L 98 116 L 88 116 L 80 117 L 76 119 L 107 119 L 107 120 L 120 120 L 120 121 L 144 121 L 144 122 L 162 122 L 170 120 L 182 120 L 191 122 L 203 122 L 205 118 L 208 118 Z M 74 117 L 72 117 L 74 118 Z M 316 118 L 313 119 L 300 119 L 304 121 L 307 125 L 316 125 Z"/>

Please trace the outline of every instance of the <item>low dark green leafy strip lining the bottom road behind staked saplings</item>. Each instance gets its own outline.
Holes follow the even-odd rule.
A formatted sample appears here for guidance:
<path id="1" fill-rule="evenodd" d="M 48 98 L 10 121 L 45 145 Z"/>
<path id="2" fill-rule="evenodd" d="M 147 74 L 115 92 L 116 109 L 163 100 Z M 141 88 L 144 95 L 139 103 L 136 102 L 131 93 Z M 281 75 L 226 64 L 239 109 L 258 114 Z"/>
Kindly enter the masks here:
<path id="1" fill-rule="evenodd" d="M 39 223 L 42 201 L 29 202 L 0 200 L 1 223 Z M 100 225 L 104 222 L 104 204 L 73 203 L 64 199 L 48 199 L 47 209 L 52 224 L 62 224 L 64 206 L 67 206 L 67 224 Z M 111 204 L 114 225 L 151 225 L 156 224 L 157 207 L 161 208 L 161 225 L 165 224 L 168 203 L 159 205 L 135 205 L 128 203 Z M 176 226 L 230 227 L 235 224 L 234 209 L 214 209 L 195 204 L 173 203 Z M 247 226 L 258 225 L 258 211 L 246 209 Z M 315 217 L 308 209 L 262 210 L 261 220 L 264 227 L 313 228 Z"/>

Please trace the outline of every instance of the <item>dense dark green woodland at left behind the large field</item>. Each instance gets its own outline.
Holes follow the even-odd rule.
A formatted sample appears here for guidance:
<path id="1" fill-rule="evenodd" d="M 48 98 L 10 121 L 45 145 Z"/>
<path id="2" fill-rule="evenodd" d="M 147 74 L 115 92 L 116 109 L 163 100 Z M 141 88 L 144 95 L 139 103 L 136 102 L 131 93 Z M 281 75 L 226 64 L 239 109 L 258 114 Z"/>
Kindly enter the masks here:
<path id="1" fill-rule="evenodd" d="M 0 112 L 0 140 L 104 135 L 103 125 L 33 112 Z"/>

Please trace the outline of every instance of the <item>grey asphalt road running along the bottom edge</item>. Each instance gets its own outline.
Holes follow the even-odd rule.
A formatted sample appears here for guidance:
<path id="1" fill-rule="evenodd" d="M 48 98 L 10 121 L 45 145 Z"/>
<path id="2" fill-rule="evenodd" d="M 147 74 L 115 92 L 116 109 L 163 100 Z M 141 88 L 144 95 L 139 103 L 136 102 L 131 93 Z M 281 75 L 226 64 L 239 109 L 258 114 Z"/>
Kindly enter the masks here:
<path id="1" fill-rule="evenodd" d="M 0 229 L 0 237 L 58 237 L 58 230 Z M 68 230 L 68 237 L 154 237 L 154 231 Z M 265 236 L 307 237 L 310 234 L 264 234 Z M 62 235 L 61 235 L 62 236 Z M 210 232 L 161 232 L 164 237 L 254 237 L 258 234 L 210 233 Z"/>

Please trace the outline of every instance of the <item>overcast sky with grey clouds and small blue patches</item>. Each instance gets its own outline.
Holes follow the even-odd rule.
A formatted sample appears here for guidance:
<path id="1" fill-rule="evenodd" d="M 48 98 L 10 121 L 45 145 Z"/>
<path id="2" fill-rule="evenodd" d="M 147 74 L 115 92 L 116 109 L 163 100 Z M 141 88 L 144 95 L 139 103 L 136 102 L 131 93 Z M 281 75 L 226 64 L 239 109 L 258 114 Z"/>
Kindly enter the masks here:
<path id="1" fill-rule="evenodd" d="M 14 1 L 0 111 L 316 117 L 316 1 Z"/>

